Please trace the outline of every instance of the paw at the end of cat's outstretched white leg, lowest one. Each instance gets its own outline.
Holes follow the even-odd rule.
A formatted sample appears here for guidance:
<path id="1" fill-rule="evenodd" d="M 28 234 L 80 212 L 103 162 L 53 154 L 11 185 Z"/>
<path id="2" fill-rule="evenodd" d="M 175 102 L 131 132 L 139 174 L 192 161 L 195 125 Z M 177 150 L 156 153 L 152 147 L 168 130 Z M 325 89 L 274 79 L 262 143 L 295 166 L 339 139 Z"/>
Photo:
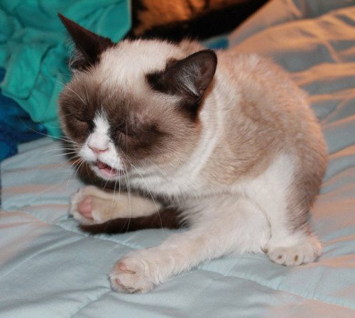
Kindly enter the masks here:
<path id="1" fill-rule="evenodd" d="M 130 294 L 142 293 L 158 285 L 154 275 L 157 268 L 141 252 L 132 252 L 114 265 L 109 275 L 114 290 Z"/>

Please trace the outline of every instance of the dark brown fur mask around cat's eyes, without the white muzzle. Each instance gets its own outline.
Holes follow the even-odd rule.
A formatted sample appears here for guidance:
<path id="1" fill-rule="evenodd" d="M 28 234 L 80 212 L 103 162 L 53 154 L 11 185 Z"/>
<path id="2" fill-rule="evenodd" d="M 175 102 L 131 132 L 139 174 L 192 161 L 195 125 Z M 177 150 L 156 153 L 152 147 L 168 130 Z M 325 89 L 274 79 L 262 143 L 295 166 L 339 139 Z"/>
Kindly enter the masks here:
<path id="1" fill-rule="evenodd" d="M 182 160 L 197 143 L 198 125 L 187 119 L 186 112 L 180 111 L 179 106 L 167 109 L 162 116 L 162 106 L 154 104 L 155 100 L 135 99 L 121 91 L 113 96 L 112 92 L 105 92 L 100 82 L 92 79 L 83 74 L 72 80 L 60 94 L 62 127 L 73 140 L 83 142 L 87 138 L 94 114 L 105 105 L 104 111 L 114 127 L 111 138 L 127 167 L 142 160 L 173 165 L 170 150 L 180 148 Z"/>

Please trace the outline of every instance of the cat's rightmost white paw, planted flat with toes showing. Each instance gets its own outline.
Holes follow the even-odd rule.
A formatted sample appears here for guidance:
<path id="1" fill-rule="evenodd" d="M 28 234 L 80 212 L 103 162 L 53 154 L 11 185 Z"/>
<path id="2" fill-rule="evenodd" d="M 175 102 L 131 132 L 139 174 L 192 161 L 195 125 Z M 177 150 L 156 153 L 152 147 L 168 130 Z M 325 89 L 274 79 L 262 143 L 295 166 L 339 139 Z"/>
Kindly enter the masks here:
<path id="1" fill-rule="evenodd" d="M 312 263 L 322 254 L 322 246 L 315 236 L 290 246 L 267 246 L 266 253 L 271 261 L 281 265 Z"/>

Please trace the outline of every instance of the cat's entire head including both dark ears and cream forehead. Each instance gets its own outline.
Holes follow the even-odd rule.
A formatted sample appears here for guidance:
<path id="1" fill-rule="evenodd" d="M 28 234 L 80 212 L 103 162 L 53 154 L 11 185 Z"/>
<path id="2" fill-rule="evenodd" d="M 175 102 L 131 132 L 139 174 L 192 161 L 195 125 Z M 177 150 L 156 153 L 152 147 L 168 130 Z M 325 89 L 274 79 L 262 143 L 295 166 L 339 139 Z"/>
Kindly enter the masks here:
<path id="1" fill-rule="evenodd" d="M 216 68 L 214 53 L 181 58 L 168 43 L 114 45 L 61 18 L 77 56 L 59 114 L 80 157 L 105 180 L 142 169 L 167 174 L 185 163 L 201 133 L 198 112 Z"/>

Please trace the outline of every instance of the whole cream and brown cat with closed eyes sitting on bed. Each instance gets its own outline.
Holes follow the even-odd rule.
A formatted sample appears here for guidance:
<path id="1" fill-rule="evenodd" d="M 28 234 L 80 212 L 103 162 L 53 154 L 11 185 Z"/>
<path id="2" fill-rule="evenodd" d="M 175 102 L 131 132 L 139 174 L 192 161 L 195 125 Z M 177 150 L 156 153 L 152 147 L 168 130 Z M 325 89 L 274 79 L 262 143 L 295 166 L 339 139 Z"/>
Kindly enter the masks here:
<path id="1" fill-rule="evenodd" d="M 229 253 L 266 253 L 283 265 L 321 255 L 307 212 L 326 146 L 305 92 L 280 67 L 190 40 L 116 44 L 60 18 L 75 43 L 58 99 L 62 129 L 116 185 L 116 194 L 83 187 L 70 214 L 89 227 L 120 219 L 134 229 L 149 220 L 187 226 L 117 261 L 114 290 L 148 292 Z"/>

